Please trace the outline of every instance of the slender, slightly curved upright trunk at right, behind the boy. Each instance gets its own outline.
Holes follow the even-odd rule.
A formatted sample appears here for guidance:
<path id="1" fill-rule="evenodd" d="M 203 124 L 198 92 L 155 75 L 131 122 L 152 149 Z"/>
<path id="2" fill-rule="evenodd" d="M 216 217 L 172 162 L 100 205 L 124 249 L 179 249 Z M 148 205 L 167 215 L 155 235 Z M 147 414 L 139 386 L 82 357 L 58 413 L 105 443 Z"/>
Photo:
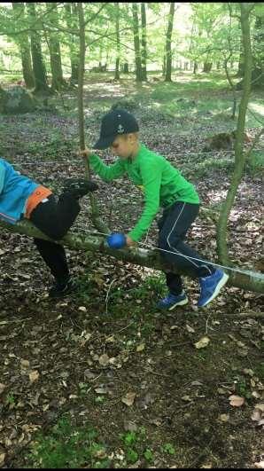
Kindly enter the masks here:
<path id="1" fill-rule="evenodd" d="M 237 194 L 238 185 L 241 182 L 245 168 L 245 152 L 243 152 L 244 133 L 245 133 L 245 114 L 249 101 L 251 91 L 251 77 L 252 77 L 252 46 L 249 22 L 249 4 L 240 3 L 241 11 L 241 31 L 243 39 L 243 47 L 245 54 L 245 76 L 244 76 L 244 89 L 239 105 L 239 112 L 237 118 L 237 131 L 235 143 L 235 169 L 226 200 L 221 207 L 221 215 L 217 226 L 217 250 L 221 263 L 229 263 L 229 254 L 227 247 L 227 233 L 228 233 L 228 220 L 229 213 L 233 206 Z"/>

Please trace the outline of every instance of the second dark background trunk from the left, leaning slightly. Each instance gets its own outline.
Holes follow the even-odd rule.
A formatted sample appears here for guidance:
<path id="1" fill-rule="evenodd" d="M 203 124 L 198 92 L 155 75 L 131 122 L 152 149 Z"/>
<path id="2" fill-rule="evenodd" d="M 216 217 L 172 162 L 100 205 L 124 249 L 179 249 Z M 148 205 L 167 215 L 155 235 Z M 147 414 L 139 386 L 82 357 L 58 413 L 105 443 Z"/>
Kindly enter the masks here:
<path id="1" fill-rule="evenodd" d="M 37 23 L 35 3 L 27 3 L 27 12 L 29 14 L 32 25 L 35 25 Z M 50 87 L 48 86 L 47 82 L 46 68 L 43 61 L 41 36 L 38 32 L 31 31 L 30 40 L 33 72 L 35 76 L 34 93 L 50 93 Z"/>

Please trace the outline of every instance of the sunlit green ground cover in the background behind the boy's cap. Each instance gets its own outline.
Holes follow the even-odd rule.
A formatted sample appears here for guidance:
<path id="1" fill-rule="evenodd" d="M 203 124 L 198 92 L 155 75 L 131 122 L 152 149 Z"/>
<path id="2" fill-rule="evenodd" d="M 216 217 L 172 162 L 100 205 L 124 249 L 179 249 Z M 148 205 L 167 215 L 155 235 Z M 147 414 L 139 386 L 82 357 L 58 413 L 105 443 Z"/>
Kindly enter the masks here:
<path id="1" fill-rule="evenodd" d="M 159 82 L 153 82 L 152 76 L 150 74 L 150 81 L 142 85 L 136 84 L 133 75 L 122 77 L 119 84 L 105 82 L 105 91 L 108 90 L 108 96 L 106 93 L 105 97 L 101 97 L 100 90 L 104 80 L 109 80 L 111 74 L 95 77 L 100 82 L 99 89 L 98 82 L 93 82 L 92 75 L 87 76 L 84 87 L 84 118 L 89 135 L 86 138 L 93 139 L 94 129 L 99 128 L 101 116 L 114 103 L 123 103 L 128 111 L 138 115 L 143 127 L 148 126 L 156 116 L 159 122 L 164 122 L 167 132 L 172 134 L 198 131 L 199 136 L 202 133 L 204 137 L 208 137 L 216 131 L 236 128 L 237 120 L 231 119 L 233 96 L 225 75 L 217 72 L 207 75 L 175 72 L 173 82 L 164 82 L 161 75 Z M 86 93 L 91 97 L 86 98 Z M 260 128 L 264 115 L 262 101 L 260 93 L 252 91 L 250 111 L 245 122 L 247 129 Z M 76 152 L 79 145 L 76 92 L 66 92 L 63 98 L 54 96 L 50 98 L 49 103 L 52 113 L 43 111 L 21 115 L 19 122 L 15 124 L 6 116 L 0 117 L 1 142 L 6 141 L 6 134 L 13 135 L 13 148 L 7 148 L 3 144 L 0 146 L 1 153 L 12 157 L 12 153 L 27 152 L 32 156 L 41 154 L 43 160 L 61 160 L 67 154 Z M 67 128 L 59 130 L 59 122 L 57 126 L 56 121 L 52 119 L 55 116 L 63 120 L 76 120 L 74 132 L 68 134 Z M 27 122 L 34 130 L 30 139 L 25 132 Z M 20 138 L 20 130 L 26 138 Z M 160 132 L 162 133 L 162 130 Z M 40 134 L 42 139 L 39 138 Z"/>

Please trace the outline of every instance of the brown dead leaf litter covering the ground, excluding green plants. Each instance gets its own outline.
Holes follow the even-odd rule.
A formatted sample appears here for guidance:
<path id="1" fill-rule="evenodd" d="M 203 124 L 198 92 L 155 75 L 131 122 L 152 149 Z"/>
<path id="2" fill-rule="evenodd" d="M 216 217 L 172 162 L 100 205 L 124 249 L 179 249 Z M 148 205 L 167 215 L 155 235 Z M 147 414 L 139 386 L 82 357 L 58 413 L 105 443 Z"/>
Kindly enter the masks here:
<path id="1" fill-rule="evenodd" d="M 146 145 L 166 154 L 182 169 L 183 175 L 197 185 L 204 205 L 210 200 L 216 202 L 228 188 L 228 173 L 214 169 L 196 177 L 195 168 L 203 157 L 189 156 L 189 163 L 186 158 L 186 151 L 198 153 L 201 149 L 206 127 L 201 128 L 201 133 L 189 130 L 184 136 L 178 132 L 170 134 L 160 116 L 155 121 L 155 114 L 136 113 L 142 113 L 144 118 Z M 97 114 L 94 118 L 90 137 L 97 135 Z M 25 146 L 17 146 L 14 161 L 27 175 L 57 190 L 69 173 L 78 176 L 82 172 L 82 164 L 74 162 L 76 155 L 70 144 L 71 138 L 76 137 L 77 146 L 76 120 L 45 114 L 41 125 L 35 125 L 36 120 L 40 120 L 37 114 L 8 117 L 4 140 L 8 143 L 13 136 L 14 141 L 20 142 L 23 128 Z M 64 133 L 64 150 L 61 152 L 58 147 L 52 155 L 45 156 L 50 126 Z M 164 139 L 157 139 L 158 135 Z M 41 153 L 37 148 L 27 152 L 27 145 L 34 141 L 43 143 Z M 215 157 L 220 158 L 221 153 Z M 52 171 L 50 166 L 30 165 L 32 161 L 50 158 L 73 162 L 52 164 Z M 99 180 L 98 183 L 99 205 L 106 220 L 111 215 L 111 229 L 127 232 L 143 207 L 141 195 L 127 179 L 111 186 Z M 114 198 L 109 198 L 110 188 Z M 231 257 L 252 270 L 260 266 L 260 195 L 260 178 L 247 178 L 239 188 L 229 223 Z M 82 201 L 74 232 L 80 227 L 92 227 L 87 203 Z M 210 259 L 215 250 L 211 243 L 214 239 L 214 224 L 198 218 L 190 231 L 192 247 Z M 156 241 L 157 227 L 153 224 L 148 242 Z M 113 457 L 120 455 L 124 459 L 118 451 L 120 445 L 112 423 L 120 433 L 147 428 L 145 444 L 153 447 L 159 458 L 158 467 L 175 466 L 174 457 L 160 454 L 165 442 L 175 444 L 178 466 L 189 467 L 206 450 L 207 458 L 199 459 L 198 467 L 233 467 L 236 460 L 237 466 L 261 467 L 264 328 L 261 318 L 253 317 L 253 313 L 261 312 L 260 295 L 228 287 L 205 313 L 197 313 L 195 304 L 191 304 L 176 315 L 155 317 L 155 289 L 149 287 L 143 301 L 136 294 L 136 287 L 142 285 L 146 274 L 155 273 L 111 257 L 85 258 L 80 252 L 71 251 L 71 268 L 83 277 L 88 297 L 81 300 L 73 296 L 54 304 L 45 291 L 50 276 L 40 264 L 32 241 L 1 230 L 1 242 L 0 466 L 8 463 L 27 467 L 20 450 L 28 451 L 37 430 L 49 429 L 63 412 L 70 410 L 79 420 L 89 420 L 97 426 L 105 435 L 105 442 L 110 439 Z M 104 318 L 105 296 L 113 278 L 116 298 L 111 297 L 111 290 L 109 300 L 113 318 Z M 188 280 L 188 288 L 192 301 L 197 300 L 197 284 Z M 133 323 L 129 325 L 131 318 Z M 194 336 L 199 341 L 210 339 L 210 344 L 203 341 L 203 348 L 194 348 L 198 343 L 194 343 Z M 101 395 L 105 396 L 104 406 L 95 403 L 96 396 Z M 217 420 L 221 429 L 215 428 Z M 138 466 L 145 464 L 140 461 Z"/>

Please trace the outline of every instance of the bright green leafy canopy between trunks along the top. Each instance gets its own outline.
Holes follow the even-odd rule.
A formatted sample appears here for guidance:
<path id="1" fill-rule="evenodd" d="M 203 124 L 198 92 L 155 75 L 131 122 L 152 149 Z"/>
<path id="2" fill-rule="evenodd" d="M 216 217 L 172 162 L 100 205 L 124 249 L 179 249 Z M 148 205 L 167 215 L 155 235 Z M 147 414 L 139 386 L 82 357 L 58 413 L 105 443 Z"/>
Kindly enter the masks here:
<path id="1" fill-rule="evenodd" d="M 145 4 L 149 73 L 151 70 L 160 70 L 163 65 L 168 6 L 160 3 Z M 11 4 L 0 6 L 0 26 L 5 35 L 1 39 L 4 52 L 0 52 L 0 64 L 6 71 L 9 70 L 16 74 L 19 71 L 19 75 L 21 75 L 22 49 L 20 49 L 20 44 L 27 44 L 27 48 L 29 47 L 30 31 L 34 29 L 37 35 L 43 39 L 41 53 L 47 73 L 54 74 L 54 64 L 52 68 L 50 53 L 53 51 L 54 42 L 57 41 L 63 74 L 69 77 L 72 73 L 73 63 L 77 67 L 79 60 L 76 4 L 35 4 L 35 18 L 30 15 L 27 5 L 20 9 L 20 12 L 18 8 L 12 8 Z M 120 3 L 117 10 L 116 4 L 86 3 L 83 4 L 83 10 L 84 20 L 89 25 L 86 35 L 86 43 L 89 48 L 86 73 L 89 73 L 93 67 L 97 67 L 98 70 L 101 67 L 101 71 L 105 66 L 107 69 L 114 69 L 117 54 L 117 14 L 120 27 L 120 65 L 123 66 L 127 62 L 129 69 L 131 69 L 135 63 L 135 51 L 131 47 L 133 44 L 131 4 Z M 262 12 L 262 4 L 255 4 L 251 12 L 252 36 L 254 38 L 252 47 L 257 56 L 260 56 L 263 51 L 263 47 L 261 48 L 263 33 L 260 22 L 256 22 L 255 18 L 261 19 Z M 139 21 L 140 24 L 141 21 Z M 140 30 L 140 35 L 141 33 Z M 232 49 L 231 60 L 237 64 L 240 47 L 241 28 L 238 4 L 229 4 L 228 6 L 228 4 L 214 2 L 178 5 L 172 35 L 172 55 L 175 67 L 179 67 L 179 61 L 189 59 L 192 62 L 197 61 L 200 69 L 203 62 L 213 63 L 214 67 L 222 68 L 222 61 L 228 57 L 230 48 Z M 25 56 L 23 60 L 25 63 Z M 193 67 L 193 64 L 190 67 Z M 230 67 L 232 68 L 232 64 Z"/>

